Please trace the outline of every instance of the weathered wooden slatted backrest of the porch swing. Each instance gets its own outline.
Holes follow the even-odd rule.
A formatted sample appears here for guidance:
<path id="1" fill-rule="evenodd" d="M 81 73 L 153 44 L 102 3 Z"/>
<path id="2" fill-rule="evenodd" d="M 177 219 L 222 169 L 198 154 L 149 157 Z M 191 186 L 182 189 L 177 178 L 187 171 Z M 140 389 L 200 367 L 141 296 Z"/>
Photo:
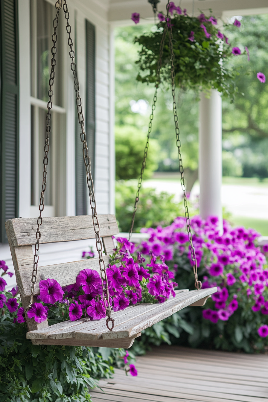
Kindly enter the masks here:
<path id="1" fill-rule="evenodd" d="M 111 236 L 118 234 L 115 215 L 98 215 L 100 224 L 100 237 L 104 247 L 105 265 L 108 265 L 109 254 L 115 248 Z M 9 219 L 6 223 L 6 233 L 12 255 L 13 265 L 16 274 L 18 290 L 24 308 L 29 304 L 31 295 L 31 278 L 33 273 L 33 248 L 36 242 L 37 218 Z M 64 217 L 43 217 L 40 227 L 42 243 L 70 242 L 74 240 L 85 240 L 95 238 L 92 216 L 64 216 Z M 40 247 L 41 247 L 40 246 Z M 99 259 L 90 258 L 70 263 L 61 263 L 38 267 L 37 281 L 35 283 L 34 295 L 39 294 L 39 281 L 42 278 L 56 279 L 61 286 L 68 286 L 76 283 L 76 276 L 85 268 L 100 272 Z M 47 326 L 47 321 L 41 324 L 27 320 L 30 330 Z M 30 324 L 30 325 L 29 325 Z"/>

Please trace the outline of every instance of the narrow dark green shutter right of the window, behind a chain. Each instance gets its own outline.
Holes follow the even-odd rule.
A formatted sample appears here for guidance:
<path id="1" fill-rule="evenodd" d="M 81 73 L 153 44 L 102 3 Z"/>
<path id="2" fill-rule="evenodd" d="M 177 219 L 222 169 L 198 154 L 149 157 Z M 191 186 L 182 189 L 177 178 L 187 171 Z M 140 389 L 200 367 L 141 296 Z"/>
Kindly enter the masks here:
<path id="1" fill-rule="evenodd" d="M 94 180 L 95 165 L 95 27 L 86 21 L 86 139 Z M 80 141 L 80 125 L 76 124 L 76 215 L 87 214 L 88 190 Z"/>

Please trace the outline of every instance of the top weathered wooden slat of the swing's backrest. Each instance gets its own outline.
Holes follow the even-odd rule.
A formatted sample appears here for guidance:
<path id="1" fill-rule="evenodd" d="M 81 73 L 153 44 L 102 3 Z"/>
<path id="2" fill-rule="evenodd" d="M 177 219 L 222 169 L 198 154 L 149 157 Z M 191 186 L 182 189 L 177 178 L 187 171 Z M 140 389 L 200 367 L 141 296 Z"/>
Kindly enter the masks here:
<path id="1" fill-rule="evenodd" d="M 115 215 L 98 215 L 100 236 L 118 234 Z M 36 242 L 37 218 L 9 219 L 6 222 L 9 242 L 17 246 L 30 246 Z M 69 242 L 95 238 L 92 216 L 43 217 L 40 243 Z"/>

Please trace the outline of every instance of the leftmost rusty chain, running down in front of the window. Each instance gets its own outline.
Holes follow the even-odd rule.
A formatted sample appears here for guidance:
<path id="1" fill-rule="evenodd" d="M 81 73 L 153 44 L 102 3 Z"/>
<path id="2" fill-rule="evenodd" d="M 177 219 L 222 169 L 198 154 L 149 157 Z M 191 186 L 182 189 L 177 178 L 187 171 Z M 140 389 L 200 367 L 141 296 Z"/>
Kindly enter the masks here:
<path id="1" fill-rule="evenodd" d="M 40 197 L 40 203 L 39 203 L 39 217 L 37 219 L 37 232 L 35 234 L 36 237 L 36 243 L 35 243 L 35 254 L 33 257 L 33 274 L 32 274 L 32 286 L 31 286 L 31 295 L 30 295 L 30 304 L 27 307 L 27 310 L 31 308 L 31 305 L 33 304 L 33 294 L 35 291 L 35 282 L 37 279 L 37 269 L 38 269 L 38 260 L 39 260 L 39 255 L 37 254 L 39 250 L 39 240 L 41 238 L 41 232 L 40 232 L 40 226 L 42 225 L 43 218 L 42 218 L 42 212 L 44 210 L 44 194 L 45 194 L 45 189 L 46 189 L 46 183 L 47 183 L 47 164 L 48 164 L 48 152 L 49 152 L 49 134 L 51 131 L 50 127 L 50 121 L 51 121 L 51 109 L 52 109 L 52 96 L 53 96 L 53 84 L 54 84 L 54 78 L 55 78 L 55 65 L 56 65 L 56 60 L 55 60 L 55 54 L 57 52 L 56 49 L 56 42 L 57 42 L 57 26 L 58 26 L 58 19 L 59 19 L 59 10 L 61 8 L 61 2 L 58 1 L 55 4 L 55 7 L 57 8 L 57 14 L 53 20 L 53 28 L 54 28 L 54 33 L 52 35 L 52 42 L 53 46 L 51 48 L 51 53 L 52 53 L 52 59 L 51 59 L 51 72 L 50 72 L 50 78 L 49 78 L 49 91 L 48 91 L 48 96 L 49 96 L 49 101 L 47 103 L 47 137 L 45 139 L 45 156 L 43 159 L 43 181 L 42 181 L 42 188 L 41 188 L 41 197 Z"/>

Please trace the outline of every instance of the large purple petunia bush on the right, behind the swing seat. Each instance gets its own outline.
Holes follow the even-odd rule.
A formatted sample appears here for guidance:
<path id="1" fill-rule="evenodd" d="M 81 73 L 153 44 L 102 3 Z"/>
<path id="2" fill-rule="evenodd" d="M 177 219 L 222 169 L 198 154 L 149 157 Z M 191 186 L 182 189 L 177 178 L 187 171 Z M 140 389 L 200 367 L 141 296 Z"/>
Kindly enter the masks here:
<path id="1" fill-rule="evenodd" d="M 264 351 L 268 346 L 268 246 L 261 252 L 257 232 L 233 229 L 226 221 L 219 236 L 215 217 L 207 221 L 192 218 L 192 230 L 203 288 L 217 286 L 218 292 L 204 307 L 185 308 L 143 331 L 133 349 L 142 353 L 150 344 L 166 342 L 248 353 Z M 180 289 L 192 289 L 194 276 L 184 218 L 175 219 L 166 228 L 143 232 L 149 233 L 143 249 L 151 250 L 156 240 L 162 244 L 162 252 L 170 249 L 174 254 L 167 265 L 176 271 L 175 281 Z"/>

